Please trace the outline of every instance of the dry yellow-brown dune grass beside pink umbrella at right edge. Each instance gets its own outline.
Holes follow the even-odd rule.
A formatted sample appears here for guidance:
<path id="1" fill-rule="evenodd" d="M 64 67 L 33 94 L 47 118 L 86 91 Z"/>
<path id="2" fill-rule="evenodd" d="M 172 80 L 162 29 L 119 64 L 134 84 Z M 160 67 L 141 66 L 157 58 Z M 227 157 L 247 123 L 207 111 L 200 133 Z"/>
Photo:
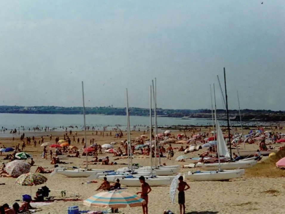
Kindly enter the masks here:
<path id="1" fill-rule="evenodd" d="M 285 157 L 285 149 L 280 150 L 275 156 L 269 157 L 267 160 L 257 163 L 254 167 L 246 169 L 246 177 L 269 177 L 278 178 L 285 177 L 285 170 L 276 167 L 276 162 Z"/>

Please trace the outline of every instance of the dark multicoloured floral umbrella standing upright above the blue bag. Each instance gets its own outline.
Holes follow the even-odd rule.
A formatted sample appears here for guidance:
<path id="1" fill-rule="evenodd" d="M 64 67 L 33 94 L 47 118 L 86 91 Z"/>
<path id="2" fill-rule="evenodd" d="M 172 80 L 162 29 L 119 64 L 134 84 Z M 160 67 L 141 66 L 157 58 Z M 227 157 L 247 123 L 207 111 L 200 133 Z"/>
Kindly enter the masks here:
<path id="1" fill-rule="evenodd" d="M 26 173 L 16 179 L 16 184 L 21 186 L 36 186 L 45 182 L 47 182 L 47 178 L 38 173 Z"/>

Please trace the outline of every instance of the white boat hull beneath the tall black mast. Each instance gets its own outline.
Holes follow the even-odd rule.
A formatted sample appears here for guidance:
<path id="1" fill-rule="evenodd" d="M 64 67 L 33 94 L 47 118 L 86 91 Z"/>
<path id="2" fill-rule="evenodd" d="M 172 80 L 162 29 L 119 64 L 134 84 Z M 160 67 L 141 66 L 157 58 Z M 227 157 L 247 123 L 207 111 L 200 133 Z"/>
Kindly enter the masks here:
<path id="1" fill-rule="evenodd" d="M 221 163 L 221 169 L 223 170 L 235 170 L 235 169 L 247 169 L 253 167 L 257 161 L 236 161 Z M 203 170 L 219 170 L 219 163 L 204 164 L 198 162 L 196 167 L 201 167 Z"/>

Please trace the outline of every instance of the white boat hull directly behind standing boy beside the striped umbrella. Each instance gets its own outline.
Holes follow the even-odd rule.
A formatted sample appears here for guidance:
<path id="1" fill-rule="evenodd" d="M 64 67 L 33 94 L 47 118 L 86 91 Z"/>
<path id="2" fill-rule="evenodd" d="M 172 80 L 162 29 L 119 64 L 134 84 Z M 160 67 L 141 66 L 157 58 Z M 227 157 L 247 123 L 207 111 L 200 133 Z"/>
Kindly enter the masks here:
<path id="1" fill-rule="evenodd" d="M 169 186 L 171 184 L 171 178 L 145 178 L 145 182 L 151 187 L 155 186 Z M 141 183 L 139 178 L 122 178 L 120 184 L 127 187 L 140 187 Z"/>

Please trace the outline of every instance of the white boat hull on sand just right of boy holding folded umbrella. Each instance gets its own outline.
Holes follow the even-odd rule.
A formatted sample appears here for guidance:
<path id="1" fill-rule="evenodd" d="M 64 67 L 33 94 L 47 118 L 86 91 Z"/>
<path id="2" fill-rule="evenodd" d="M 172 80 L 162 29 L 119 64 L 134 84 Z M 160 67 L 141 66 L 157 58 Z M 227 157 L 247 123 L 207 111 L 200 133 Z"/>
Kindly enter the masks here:
<path id="1" fill-rule="evenodd" d="M 205 171 L 189 172 L 185 178 L 193 181 L 223 181 L 233 178 L 239 178 L 244 175 L 244 169 L 241 170 L 223 170 L 223 171 Z"/>

